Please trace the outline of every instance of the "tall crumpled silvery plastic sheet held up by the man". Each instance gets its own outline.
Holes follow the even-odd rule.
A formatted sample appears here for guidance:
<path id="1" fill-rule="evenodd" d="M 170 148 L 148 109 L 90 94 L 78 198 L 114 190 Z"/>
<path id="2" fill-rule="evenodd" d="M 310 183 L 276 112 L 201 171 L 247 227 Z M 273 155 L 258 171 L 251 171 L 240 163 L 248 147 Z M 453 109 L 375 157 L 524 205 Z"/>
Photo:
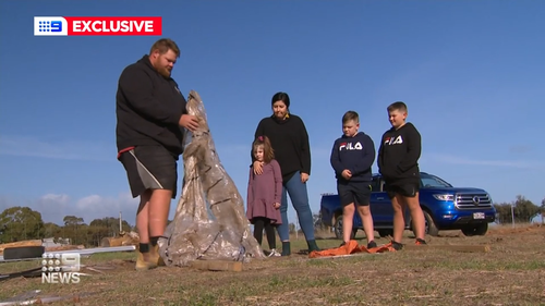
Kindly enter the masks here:
<path id="1" fill-rule="evenodd" d="M 192 90 L 187 112 L 199 127 L 185 131 L 184 184 L 173 221 L 159 238 L 167 266 L 189 266 L 196 259 L 249 261 L 266 258 L 250 231 L 244 201 L 221 166 L 199 95 Z"/>

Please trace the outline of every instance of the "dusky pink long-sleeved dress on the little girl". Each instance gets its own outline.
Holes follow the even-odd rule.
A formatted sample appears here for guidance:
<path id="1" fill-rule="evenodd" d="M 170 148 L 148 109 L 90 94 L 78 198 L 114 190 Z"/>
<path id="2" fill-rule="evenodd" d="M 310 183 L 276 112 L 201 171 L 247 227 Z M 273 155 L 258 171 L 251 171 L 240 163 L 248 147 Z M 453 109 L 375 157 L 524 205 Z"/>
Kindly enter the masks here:
<path id="1" fill-rule="evenodd" d="M 255 217 L 268 218 L 275 225 L 281 224 L 280 209 L 272 206 L 275 203 L 281 204 L 281 197 L 282 173 L 278 161 L 271 160 L 264 164 L 262 174 L 254 174 L 254 169 L 250 168 L 246 217 L 252 224 Z"/>

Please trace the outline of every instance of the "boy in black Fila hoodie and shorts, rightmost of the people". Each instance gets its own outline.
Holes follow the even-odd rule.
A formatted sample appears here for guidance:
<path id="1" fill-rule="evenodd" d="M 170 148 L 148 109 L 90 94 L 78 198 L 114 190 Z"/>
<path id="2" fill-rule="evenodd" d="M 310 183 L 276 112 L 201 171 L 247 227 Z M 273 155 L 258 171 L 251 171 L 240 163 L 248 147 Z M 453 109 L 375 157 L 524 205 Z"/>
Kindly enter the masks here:
<path id="1" fill-rule="evenodd" d="M 412 123 L 407 123 L 407 105 L 395 102 L 388 106 L 391 128 L 384 133 L 378 149 L 378 171 L 385 180 L 385 188 L 393 207 L 393 240 L 391 246 L 401 249 L 404 230 L 403 212 L 409 208 L 416 234 L 416 244 L 424 240 L 425 221 L 420 207 L 421 136 Z"/>

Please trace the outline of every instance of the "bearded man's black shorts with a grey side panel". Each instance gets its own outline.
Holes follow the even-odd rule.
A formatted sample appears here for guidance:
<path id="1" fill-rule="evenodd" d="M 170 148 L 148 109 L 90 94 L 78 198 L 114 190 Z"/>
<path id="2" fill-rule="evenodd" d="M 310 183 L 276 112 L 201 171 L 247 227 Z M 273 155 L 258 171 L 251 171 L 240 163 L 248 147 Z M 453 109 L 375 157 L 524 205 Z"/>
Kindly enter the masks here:
<path id="1" fill-rule="evenodd" d="M 121 154 L 133 197 L 146 189 L 172 191 L 177 195 L 178 164 L 175 158 L 162 146 L 137 146 Z"/>

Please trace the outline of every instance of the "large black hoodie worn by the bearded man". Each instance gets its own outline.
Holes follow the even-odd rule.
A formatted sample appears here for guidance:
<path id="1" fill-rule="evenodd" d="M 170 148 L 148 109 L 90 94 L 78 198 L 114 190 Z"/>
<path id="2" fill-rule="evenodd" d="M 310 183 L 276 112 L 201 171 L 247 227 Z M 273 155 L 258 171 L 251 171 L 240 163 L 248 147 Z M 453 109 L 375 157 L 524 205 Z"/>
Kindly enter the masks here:
<path id="1" fill-rule="evenodd" d="M 126 66 L 116 96 L 118 151 L 133 146 L 162 145 L 177 159 L 183 152 L 182 114 L 185 98 L 171 77 L 160 75 L 144 56 Z"/>

